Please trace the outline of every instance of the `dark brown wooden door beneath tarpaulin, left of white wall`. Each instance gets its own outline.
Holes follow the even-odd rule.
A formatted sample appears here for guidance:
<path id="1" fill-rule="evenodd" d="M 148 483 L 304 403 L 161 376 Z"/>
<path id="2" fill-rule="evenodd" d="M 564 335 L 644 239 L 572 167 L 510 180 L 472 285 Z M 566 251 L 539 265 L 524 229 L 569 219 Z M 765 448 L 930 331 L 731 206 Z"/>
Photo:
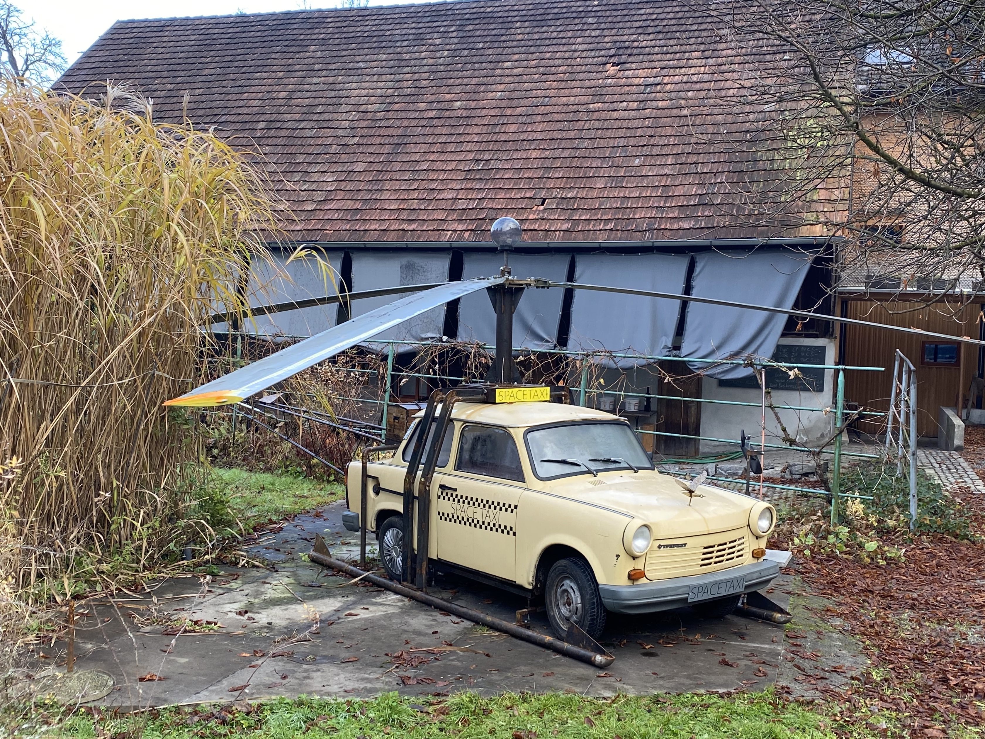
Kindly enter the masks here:
<path id="1" fill-rule="evenodd" d="M 663 372 L 657 383 L 657 394 L 672 398 L 700 398 L 701 375 L 683 362 L 661 365 Z M 701 404 L 696 400 L 673 400 L 661 397 L 657 401 L 656 431 L 681 434 L 681 437 L 656 437 L 656 450 L 665 457 L 696 457 L 700 454 Z"/>

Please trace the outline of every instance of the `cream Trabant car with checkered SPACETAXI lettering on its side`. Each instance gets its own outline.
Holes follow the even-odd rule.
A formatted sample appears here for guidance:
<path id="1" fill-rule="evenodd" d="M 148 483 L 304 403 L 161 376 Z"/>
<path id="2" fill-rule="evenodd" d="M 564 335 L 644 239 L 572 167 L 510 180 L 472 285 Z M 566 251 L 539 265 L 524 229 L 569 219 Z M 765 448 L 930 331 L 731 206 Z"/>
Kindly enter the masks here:
<path id="1" fill-rule="evenodd" d="M 403 571 L 401 491 L 421 415 L 392 458 L 366 470 L 366 527 L 393 579 Z M 619 416 L 462 402 L 451 422 L 430 487 L 429 561 L 543 597 L 558 636 L 573 622 L 597 638 L 607 611 L 690 606 L 719 617 L 779 572 L 765 555 L 772 505 L 711 486 L 689 490 L 657 472 Z M 358 531 L 361 462 L 347 478 L 343 520 Z"/>

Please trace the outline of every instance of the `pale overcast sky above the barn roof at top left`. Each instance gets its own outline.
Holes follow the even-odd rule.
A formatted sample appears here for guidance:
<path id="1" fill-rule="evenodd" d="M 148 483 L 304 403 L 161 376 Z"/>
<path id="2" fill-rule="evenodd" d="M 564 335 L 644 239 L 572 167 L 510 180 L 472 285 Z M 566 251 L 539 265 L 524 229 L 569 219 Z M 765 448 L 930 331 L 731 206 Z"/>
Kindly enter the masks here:
<path id="1" fill-rule="evenodd" d="M 370 0 L 372 6 L 427 0 Z M 15 0 L 16 2 L 16 0 Z M 280 10 L 334 8 L 338 0 L 21 0 L 18 7 L 38 28 L 61 38 L 69 64 L 89 48 L 115 21 L 132 18 L 225 16 Z"/>

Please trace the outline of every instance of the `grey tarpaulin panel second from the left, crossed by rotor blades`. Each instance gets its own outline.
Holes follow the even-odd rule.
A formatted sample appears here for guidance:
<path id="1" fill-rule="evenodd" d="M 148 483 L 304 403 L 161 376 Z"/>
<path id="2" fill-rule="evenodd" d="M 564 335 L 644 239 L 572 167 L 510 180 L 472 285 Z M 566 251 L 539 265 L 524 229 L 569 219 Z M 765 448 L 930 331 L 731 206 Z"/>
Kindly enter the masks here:
<path id="1" fill-rule="evenodd" d="M 449 251 L 353 251 L 353 291 L 448 282 Z M 353 302 L 353 317 L 404 298 L 410 293 Z M 404 321 L 373 337 L 373 341 L 434 341 L 444 329 L 444 306 Z M 408 347 L 408 349 L 410 349 Z"/>

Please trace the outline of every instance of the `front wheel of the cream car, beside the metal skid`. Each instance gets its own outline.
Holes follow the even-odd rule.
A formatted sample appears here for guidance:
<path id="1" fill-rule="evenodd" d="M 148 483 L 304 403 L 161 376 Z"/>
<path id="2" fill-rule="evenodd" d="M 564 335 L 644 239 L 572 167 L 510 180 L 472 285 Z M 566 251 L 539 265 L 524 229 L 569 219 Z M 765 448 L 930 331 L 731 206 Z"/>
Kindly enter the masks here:
<path id="1" fill-rule="evenodd" d="M 602 636 L 606 607 L 595 575 L 584 560 L 568 557 L 551 567 L 545 582 L 544 602 L 551 628 L 559 638 L 565 637 L 572 621 L 589 637 Z"/>

